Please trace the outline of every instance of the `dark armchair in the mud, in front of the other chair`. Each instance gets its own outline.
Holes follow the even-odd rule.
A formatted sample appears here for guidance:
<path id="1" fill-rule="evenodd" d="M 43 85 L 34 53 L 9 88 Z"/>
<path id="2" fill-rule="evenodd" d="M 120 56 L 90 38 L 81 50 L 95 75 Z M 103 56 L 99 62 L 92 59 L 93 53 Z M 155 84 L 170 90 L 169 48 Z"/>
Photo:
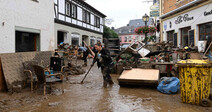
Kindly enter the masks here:
<path id="1" fill-rule="evenodd" d="M 62 73 L 45 75 L 45 68 L 38 66 L 38 65 L 33 65 L 33 68 L 34 68 L 35 74 L 38 79 L 37 86 L 38 86 L 38 84 L 43 84 L 44 95 L 46 95 L 46 85 L 50 84 L 50 88 L 52 88 L 52 83 L 55 83 L 58 81 L 62 82 L 62 92 L 64 93 L 64 87 L 63 87 L 63 77 L 64 76 Z M 55 78 L 56 76 L 59 77 L 60 79 Z"/>

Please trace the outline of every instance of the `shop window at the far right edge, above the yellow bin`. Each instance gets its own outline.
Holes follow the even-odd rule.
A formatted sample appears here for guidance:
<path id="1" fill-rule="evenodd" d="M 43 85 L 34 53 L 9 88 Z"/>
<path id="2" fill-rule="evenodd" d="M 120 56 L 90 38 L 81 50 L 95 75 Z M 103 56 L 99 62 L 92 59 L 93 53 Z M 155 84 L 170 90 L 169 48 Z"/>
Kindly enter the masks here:
<path id="1" fill-rule="evenodd" d="M 207 45 L 211 42 L 212 22 L 199 25 L 199 40 L 206 40 Z"/>

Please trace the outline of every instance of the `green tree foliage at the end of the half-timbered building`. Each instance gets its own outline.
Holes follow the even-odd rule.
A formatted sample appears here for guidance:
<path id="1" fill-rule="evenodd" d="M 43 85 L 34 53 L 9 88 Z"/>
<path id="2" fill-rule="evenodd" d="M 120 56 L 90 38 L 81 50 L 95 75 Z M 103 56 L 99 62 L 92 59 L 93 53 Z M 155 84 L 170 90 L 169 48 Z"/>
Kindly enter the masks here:
<path id="1" fill-rule="evenodd" d="M 104 38 L 118 38 L 118 34 L 111 30 L 109 27 L 104 26 L 104 32 L 103 32 Z"/>

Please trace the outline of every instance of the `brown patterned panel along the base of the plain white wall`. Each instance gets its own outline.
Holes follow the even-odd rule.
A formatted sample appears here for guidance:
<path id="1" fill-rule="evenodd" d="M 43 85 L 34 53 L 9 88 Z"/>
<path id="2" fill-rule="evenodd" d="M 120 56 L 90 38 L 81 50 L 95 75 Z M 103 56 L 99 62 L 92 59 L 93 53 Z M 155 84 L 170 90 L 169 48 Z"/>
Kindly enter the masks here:
<path id="1" fill-rule="evenodd" d="M 36 60 L 43 66 L 50 65 L 50 57 L 52 51 L 39 52 L 18 52 L 18 53 L 3 53 L 0 54 L 2 72 L 6 88 L 9 92 L 14 92 L 14 87 L 23 87 L 23 82 L 26 81 L 26 75 L 23 71 L 23 62 Z"/>

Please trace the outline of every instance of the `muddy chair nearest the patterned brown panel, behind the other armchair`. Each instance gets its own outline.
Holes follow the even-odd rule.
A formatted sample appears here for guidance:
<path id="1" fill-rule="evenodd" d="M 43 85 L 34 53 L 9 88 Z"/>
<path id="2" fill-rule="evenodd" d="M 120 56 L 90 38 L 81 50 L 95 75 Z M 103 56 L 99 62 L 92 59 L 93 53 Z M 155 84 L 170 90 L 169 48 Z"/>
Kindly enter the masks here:
<path id="1" fill-rule="evenodd" d="M 33 65 L 37 65 L 36 61 L 25 61 L 23 62 L 24 73 L 26 74 L 26 83 L 30 80 L 31 91 L 33 91 L 33 82 L 37 81 L 37 76 L 35 75 Z M 25 84 L 26 85 L 26 84 Z"/>

